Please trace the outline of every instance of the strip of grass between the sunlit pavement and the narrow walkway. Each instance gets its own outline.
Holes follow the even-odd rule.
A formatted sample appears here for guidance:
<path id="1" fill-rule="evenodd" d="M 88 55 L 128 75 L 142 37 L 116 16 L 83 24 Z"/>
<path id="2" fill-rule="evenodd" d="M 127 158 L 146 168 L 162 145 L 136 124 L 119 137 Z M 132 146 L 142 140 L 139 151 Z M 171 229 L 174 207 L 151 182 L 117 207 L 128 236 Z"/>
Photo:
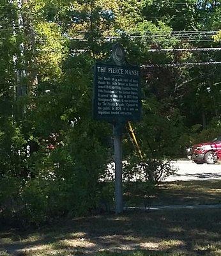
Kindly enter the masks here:
<path id="1" fill-rule="evenodd" d="M 160 182 L 150 195 L 128 194 L 125 201 L 128 206 L 221 204 L 221 180 Z"/>

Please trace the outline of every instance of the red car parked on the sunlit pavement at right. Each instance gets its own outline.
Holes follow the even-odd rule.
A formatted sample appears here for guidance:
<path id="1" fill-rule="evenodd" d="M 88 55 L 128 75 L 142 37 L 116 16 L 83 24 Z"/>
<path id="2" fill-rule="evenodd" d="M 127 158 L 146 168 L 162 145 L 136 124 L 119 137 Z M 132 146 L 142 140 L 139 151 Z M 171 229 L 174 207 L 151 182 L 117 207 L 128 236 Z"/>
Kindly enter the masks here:
<path id="1" fill-rule="evenodd" d="M 218 150 L 221 150 L 221 136 L 218 136 L 215 140 L 187 148 L 188 158 L 191 158 L 197 164 L 214 164 L 214 155 Z"/>

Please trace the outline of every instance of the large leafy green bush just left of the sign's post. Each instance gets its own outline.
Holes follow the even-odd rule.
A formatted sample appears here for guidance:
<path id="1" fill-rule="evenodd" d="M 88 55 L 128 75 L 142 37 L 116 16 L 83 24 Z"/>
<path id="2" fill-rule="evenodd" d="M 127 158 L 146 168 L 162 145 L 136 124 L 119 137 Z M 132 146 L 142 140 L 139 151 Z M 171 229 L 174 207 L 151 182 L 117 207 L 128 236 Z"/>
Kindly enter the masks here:
<path id="1" fill-rule="evenodd" d="M 109 158 L 108 145 L 101 141 L 105 133 L 91 136 L 96 124 L 90 123 L 69 129 L 54 149 L 40 145 L 24 157 L 25 177 L 20 175 L 22 165 L 13 172 L 9 166 L 8 174 L 1 176 L 0 209 L 5 220 L 40 225 L 59 216 L 88 214 L 103 200 L 111 201 L 109 188 L 99 181 Z"/>

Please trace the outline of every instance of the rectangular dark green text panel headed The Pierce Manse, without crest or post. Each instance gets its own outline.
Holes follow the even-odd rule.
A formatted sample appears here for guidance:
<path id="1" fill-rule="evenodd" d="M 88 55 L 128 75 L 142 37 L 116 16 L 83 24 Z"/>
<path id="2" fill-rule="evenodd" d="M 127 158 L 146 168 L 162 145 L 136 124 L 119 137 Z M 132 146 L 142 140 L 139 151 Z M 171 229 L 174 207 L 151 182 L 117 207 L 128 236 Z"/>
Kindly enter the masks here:
<path id="1" fill-rule="evenodd" d="M 109 122 L 141 119 L 140 68 L 95 64 L 93 115 Z"/>

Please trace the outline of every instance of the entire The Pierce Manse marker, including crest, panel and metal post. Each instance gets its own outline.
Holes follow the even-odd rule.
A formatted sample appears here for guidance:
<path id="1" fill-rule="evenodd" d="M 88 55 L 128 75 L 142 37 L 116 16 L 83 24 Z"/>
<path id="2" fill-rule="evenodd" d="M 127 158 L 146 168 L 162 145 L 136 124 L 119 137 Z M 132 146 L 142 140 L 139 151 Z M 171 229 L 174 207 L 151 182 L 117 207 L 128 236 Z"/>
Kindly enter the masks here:
<path id="1" fill-rule="evenodd" d="M 141 119 L 140 67 L 129 65 L 125 50 L 114 45 L 110 61 L 95 64 L 93 116 L 113 124 L 115 211 L 123 211 L 122 134 L 128 121 Z"/>

